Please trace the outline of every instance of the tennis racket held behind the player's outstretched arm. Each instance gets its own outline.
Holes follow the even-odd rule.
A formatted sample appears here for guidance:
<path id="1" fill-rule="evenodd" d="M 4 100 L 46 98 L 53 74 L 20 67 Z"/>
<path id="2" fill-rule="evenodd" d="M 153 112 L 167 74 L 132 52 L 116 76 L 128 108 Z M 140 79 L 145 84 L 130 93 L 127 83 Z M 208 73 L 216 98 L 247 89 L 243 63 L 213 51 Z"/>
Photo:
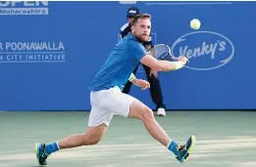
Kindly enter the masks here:
<path id="1" fill-rule="evenodd" d="M 173 56 L 171 48 L 167 44 L 156 44 L 152 48 L 152 55 L 157 60 L 178 61 L 179 58 Z M 187 59 L 188 63 L 188 59 Z"/>

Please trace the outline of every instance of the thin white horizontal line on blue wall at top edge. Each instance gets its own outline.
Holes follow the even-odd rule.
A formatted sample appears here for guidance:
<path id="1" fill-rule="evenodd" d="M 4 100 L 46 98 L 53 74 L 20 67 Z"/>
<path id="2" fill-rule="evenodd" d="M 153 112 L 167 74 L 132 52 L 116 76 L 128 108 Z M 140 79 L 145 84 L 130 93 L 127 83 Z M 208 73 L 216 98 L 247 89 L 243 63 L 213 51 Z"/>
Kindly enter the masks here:
<path id="1" fill-rule="evenodd" d="M 146 2 L 145 5 L 230 5 L 231 2 Z"/>

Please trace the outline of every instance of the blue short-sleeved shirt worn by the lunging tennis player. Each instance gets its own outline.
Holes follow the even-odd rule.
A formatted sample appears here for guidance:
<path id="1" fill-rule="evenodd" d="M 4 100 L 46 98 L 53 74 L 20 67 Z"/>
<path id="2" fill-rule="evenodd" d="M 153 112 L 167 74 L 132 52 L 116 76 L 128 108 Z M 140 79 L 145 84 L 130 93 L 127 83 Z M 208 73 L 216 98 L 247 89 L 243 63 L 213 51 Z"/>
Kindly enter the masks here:
<path id="1" fill-rule="evenodd" d="M 123 91 L 128 77 L 145 55 L 148 55 L 148 52 L 144 46 L 128 33 L 110 53 L 88 89 L 100 91 L 118 86 Z"/>

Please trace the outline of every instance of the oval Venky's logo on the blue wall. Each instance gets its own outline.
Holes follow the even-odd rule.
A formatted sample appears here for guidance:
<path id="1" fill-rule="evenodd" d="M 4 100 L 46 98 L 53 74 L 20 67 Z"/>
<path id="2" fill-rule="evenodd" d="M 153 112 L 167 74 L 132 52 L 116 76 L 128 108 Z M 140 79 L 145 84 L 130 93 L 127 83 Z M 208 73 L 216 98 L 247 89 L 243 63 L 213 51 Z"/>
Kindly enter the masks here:
<path id="1" fill-rule="evenodd" d="M 185 67 L 194 70 L 211 70 L 230 63 L 234 47 L 230 39 L 212 31 L 184 34 L 172 46 L 174 56 L 190 60 Z"/>

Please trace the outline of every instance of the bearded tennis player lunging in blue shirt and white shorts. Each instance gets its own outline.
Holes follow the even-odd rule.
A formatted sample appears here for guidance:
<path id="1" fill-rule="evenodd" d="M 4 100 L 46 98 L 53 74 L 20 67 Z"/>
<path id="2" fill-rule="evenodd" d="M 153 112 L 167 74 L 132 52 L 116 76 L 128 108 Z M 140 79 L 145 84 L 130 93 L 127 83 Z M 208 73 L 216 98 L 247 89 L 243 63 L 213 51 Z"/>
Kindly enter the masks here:
<path id="1" fill-rule="evenodd" d="M 158 61 L 147 53 L 141 43 L 149 38 L 150 20 L 151 17 L 147 14 L 134 17 L 131 32 L 110 53 L 89 85 L 92 107 L 87 132 L 71 135 L 50 144 L 36 144 L 36 157 L 40 165 L 46 165 L 47 157 L 60 149 L 98 144 L 114 114 L 143 121 L 148 133 L 172 151 L 179 162 L 187 160 L 195 145 L 195 137 L 191 136 L 186 144 L 179 145 L 157 123 L 153 111 L 148 106 L 122 93 L 128 79 L 143 90 L 149 87 L 147 81 L 137 79 L 131 73 L 138 63 L 143 63 L 156 71 L 172 71 L 183 67 L 187 62 L 184 57 L 179 57 L 177 62 Z"/>

